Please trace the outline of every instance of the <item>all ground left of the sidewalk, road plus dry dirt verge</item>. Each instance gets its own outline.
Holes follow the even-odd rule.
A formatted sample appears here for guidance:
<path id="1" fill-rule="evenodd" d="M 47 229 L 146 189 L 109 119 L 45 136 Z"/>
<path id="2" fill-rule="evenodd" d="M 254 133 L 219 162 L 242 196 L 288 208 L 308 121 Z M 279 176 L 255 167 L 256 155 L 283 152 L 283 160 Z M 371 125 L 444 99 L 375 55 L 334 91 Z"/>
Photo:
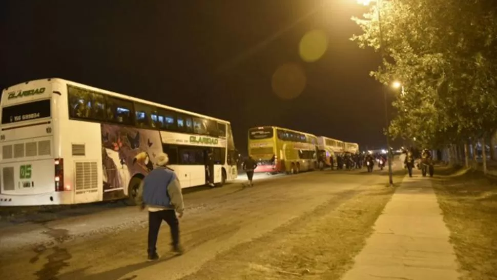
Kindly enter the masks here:
<path id="1" fill-rule="evenodd" d="M 147 263 L 146 212 L 115 207 L 0 230 L 0 278 L 336 279 L 391 196 L 383 172 L 324 171 L 185 194 L 185 254 Z M 398 180 L 396 180 L 398 181 Z M 77 238 L 75 238 L 77 237 Z"/>

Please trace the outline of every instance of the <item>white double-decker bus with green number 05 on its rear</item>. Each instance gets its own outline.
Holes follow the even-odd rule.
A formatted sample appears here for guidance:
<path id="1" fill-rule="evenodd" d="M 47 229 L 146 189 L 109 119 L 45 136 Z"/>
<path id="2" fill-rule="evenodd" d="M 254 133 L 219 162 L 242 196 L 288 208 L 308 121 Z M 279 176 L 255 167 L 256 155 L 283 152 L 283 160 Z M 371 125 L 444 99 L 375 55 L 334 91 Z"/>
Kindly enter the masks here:
<path id="1" fill-rule="evenodd" d="M 183 188 L 236 178 L 229 122 L 64 79 L 2 92 L 0 206 L 126 198 L 160 152 Z"/>

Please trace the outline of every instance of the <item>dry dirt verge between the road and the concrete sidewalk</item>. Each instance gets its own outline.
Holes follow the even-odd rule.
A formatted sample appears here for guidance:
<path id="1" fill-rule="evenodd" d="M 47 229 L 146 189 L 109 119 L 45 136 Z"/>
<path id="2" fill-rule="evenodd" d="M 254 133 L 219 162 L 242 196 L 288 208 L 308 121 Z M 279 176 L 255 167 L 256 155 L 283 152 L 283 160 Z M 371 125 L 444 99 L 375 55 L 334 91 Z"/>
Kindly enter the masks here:
<path id="1" fill-rule="evenodd" d="M 395 182 L 401 182 L 397 175 Z M 368 186 L 340 205 L 336 201 L 218 254 L 190 279 L 339 279 L 353 265 L 372 226 L 394 193 Z"/>

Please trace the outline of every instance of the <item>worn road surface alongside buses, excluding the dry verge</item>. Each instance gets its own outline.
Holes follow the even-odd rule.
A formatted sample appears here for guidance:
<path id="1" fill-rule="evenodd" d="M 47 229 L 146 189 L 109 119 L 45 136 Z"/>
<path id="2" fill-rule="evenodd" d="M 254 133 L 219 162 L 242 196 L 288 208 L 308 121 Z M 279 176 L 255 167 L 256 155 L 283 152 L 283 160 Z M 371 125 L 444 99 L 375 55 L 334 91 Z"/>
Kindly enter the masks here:
<path id="1" fill-rule="evenodd" d="M 158 242 L 162 257 L 155 263 L 144 262 L 147 213 L 136 207 L 96 207 L 54 221 L 3 227 L 0 278 L 188 277 L 201 272 L 217 254 L 245 243 L 248 252 L 261 242 L 255 238 L 283 226 L 285 231 L 292 231 L 294 219 L 319 207 L 337 207 L 370 186 L 385 183 L 380 172 L 322 171 L 259 177 L 254 187 L 234 183 L 185 194 L 187 210 L 180 227 L 187 252 L 178 257 L 168 253 L 169 228 L 163 226 Z"/>

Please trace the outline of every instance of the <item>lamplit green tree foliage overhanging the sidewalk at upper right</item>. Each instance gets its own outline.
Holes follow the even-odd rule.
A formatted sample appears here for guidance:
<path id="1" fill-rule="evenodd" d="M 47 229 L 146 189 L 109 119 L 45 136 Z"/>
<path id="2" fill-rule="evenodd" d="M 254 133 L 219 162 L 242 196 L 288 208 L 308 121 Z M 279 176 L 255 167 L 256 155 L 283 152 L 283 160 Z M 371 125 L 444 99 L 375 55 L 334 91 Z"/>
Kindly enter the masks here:
<path id="1" fill-rule="evenodd" d="M 406 94 L 394 102 L 392 137 L 441 147 L 497 128 L 497 7 L 492 0 L 377 0 L 353 20 L 351 39 L 381 51 L 371 72 Z"/>

